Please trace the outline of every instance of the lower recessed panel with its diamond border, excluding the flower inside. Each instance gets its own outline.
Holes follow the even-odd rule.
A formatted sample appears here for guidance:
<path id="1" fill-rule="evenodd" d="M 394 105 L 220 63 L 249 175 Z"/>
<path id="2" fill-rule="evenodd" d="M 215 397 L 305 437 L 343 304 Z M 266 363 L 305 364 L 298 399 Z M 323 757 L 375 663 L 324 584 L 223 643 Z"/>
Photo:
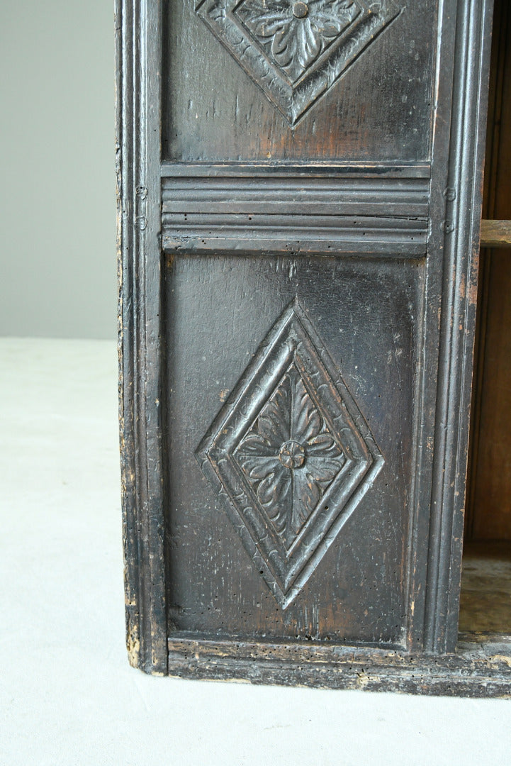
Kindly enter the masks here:
<path id="1" fill-rule="evenodd" d="M 173 630 L 404 645 L 424 273 L 423 259 L 397 257 L 171 256 L 164 453 Z M 350 463 L 313 499 L 298 542 L 291 531 L 286 543 L 278 515 L 307 516 L 307 498 L 278 498 L 286 469 L 272 486 L 270 466 L 275 502 L 265 510 L 242 444 L 268 402 L 284 398 L 297 340 L 313 409 Z M 287 411 L 281 401 L 279 417 Z M 307 452 L 301 430 L 295 440 Z M 279 433 L 269 424 L 262 435 L 270 452 Z"/>

